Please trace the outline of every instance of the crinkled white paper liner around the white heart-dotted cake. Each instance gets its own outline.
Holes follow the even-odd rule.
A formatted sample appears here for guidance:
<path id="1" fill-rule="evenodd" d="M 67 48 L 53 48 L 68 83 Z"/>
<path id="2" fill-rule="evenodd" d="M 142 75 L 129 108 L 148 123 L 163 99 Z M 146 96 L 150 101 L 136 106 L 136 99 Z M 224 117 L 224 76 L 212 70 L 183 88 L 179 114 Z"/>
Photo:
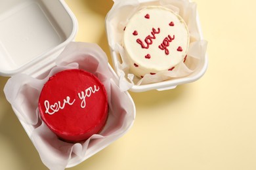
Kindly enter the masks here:
<path id="1" fill-rule="evenodd" d="M 129 61 L 127 61 L 124 48 L 121 45 L 123 28 L 135 12 L 150 5 L 167 7 L 183 18 L 190 32 L 190 46 L 188 48 L 186 62 L 176 65 L 173 71 L 161 71 L 156 75 L 145 75 L 143 78 L 138 78 L 129 71 Z M 111 30 L 107 32 L 109 46 L 119 57 L 117 60 L 114 59 L 114 63 L 116 73 L 119 76 L 120 87 L 123 90 L 129 90 L 133 85 L 140 86 L 188 76 L 198 69 L 200 60 L 205 58 L 207 42 L 200 37 L 196 3 L 188 0 L 114 0 L 114 5 L 106 18 L 106 27 L 107 30 Z"/>

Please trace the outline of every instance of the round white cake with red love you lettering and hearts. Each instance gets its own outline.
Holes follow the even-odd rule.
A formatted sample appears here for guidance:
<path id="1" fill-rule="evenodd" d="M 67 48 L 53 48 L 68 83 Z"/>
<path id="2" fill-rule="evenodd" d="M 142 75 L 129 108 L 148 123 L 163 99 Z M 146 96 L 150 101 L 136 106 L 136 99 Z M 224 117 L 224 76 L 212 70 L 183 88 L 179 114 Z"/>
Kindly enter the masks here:
<path id="1" fill-rule="evenodd" d="M 188 27 L 181 16 L 160 6 L 136 12 L 123 34 L 131 72 L 139 77 L 173 71 L 186 59 L 189 42 Z"/>

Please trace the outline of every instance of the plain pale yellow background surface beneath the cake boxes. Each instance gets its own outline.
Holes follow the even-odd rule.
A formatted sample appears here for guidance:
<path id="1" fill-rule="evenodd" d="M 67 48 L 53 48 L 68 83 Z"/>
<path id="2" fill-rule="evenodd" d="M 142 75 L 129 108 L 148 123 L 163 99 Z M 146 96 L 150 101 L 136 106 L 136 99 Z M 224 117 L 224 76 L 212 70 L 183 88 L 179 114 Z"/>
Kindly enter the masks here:
<path id="1" fill-rule="evenodd" d="M 79 22 L 76 41 L 96 42 L 110 56 L 104 18 L 113 2 L 66 2 Z M 256 169 L 256 3 L 195 2 L 209 42 L 207 73 L 175 90 L 131 92 L 131 130 L 72 169 Z M 5 99 L 7 79 L 0 77 L 0 169 L 47 169 Z"/>

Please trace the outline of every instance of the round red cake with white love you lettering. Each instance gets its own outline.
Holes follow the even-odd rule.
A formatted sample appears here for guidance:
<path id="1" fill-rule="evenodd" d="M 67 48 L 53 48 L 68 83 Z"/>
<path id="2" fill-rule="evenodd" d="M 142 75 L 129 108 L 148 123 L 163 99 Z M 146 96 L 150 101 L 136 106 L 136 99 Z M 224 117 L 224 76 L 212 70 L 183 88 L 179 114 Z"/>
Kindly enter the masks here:
<path id="1" fill-rule="evenodd" d="M 81 69 L 51 76 L 39 96 L 42 120 L 60 139 L 84 141 L 99 133 L 108 118 L 108 99 L 98 78 Z"/>

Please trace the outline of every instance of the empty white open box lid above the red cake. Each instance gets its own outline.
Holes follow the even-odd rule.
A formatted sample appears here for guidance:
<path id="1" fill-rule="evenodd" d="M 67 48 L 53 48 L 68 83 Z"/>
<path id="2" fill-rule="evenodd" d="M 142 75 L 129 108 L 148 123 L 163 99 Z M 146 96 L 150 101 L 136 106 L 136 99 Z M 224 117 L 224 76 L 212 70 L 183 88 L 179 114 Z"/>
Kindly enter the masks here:
<path id="1" fill-rule="evenodd" d="M 0 75 L 38 76 L 75 39 L 77 21 L 63 0 L 0 2 Z"/>

